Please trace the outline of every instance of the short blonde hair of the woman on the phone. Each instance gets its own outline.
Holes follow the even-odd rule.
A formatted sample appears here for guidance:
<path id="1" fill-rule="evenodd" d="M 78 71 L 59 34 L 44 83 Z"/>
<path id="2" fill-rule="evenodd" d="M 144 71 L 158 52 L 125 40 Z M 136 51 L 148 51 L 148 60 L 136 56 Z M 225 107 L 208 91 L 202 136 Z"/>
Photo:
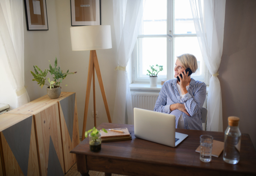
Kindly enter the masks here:
<path id="1" fill-rule="evenodd" d="M 190 68 L 193 73 L 198 69 L 197 60 L 193 54 L 182 54 L 177 56 L 184 68 Z"/>

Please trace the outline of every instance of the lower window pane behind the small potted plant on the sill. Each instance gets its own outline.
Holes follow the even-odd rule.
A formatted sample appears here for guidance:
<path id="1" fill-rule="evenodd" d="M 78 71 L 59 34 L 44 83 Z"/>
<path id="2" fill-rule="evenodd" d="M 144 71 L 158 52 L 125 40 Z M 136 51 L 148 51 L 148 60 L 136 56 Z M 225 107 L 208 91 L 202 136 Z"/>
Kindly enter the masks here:
<path id="1" fill-rule="evenodd" d="M 167 75 L 167 51 L 166 37 L 159 38 L 139 38 L 138 39 L 138 65 L 139 77 L 148 78 L 149 65 L 163 65 L 163 71 L 158 73 L 158 77 L 166 78 Z"/>

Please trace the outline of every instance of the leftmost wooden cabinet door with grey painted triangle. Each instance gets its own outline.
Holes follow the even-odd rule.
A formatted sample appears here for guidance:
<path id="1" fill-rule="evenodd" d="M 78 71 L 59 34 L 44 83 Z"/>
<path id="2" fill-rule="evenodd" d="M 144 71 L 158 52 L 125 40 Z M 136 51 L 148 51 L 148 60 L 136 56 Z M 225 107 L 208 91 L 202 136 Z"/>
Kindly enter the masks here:
<path id="1" fill-rule="evenodd" d="M 2 175 L 38 176 L 39 166 L 33 116 L 1 131 L 0 137 Z"/>

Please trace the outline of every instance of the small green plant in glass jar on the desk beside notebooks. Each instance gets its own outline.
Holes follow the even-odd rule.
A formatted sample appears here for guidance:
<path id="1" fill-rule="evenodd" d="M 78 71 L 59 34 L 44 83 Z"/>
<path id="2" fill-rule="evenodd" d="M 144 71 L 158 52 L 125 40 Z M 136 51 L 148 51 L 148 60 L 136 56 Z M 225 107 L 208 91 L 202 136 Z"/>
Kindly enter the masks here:
<path id="1" fill-rule="evenodd" d="M 108 133 L 107 130 L 102 128 L 102 131 L 105 133 Z M 89 145 L 90 145 L 90 150 L 93 152 L 98 152 L 101 150 L 101 133 L 93 127 L 93 129 L 90 129 L 89 131 L 85 131 L 85 138 L 87 138 L 89 134 Z"/>

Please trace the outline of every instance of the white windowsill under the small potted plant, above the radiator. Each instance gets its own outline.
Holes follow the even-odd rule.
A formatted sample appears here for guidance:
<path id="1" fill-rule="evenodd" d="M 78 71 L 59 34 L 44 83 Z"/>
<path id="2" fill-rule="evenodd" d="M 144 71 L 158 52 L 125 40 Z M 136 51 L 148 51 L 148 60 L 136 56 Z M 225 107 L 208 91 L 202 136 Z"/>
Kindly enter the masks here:
<path id="1" fill-rule="evenodd" d="M 161 84 L 157 84 L 157 86 L 150 86 L 147 83 L 131 83 L 130 90 L 134 92 L 160 92 L 162 88 Z M 209 85 L 206 86 L 206 93 L 209 91 Z"/>

